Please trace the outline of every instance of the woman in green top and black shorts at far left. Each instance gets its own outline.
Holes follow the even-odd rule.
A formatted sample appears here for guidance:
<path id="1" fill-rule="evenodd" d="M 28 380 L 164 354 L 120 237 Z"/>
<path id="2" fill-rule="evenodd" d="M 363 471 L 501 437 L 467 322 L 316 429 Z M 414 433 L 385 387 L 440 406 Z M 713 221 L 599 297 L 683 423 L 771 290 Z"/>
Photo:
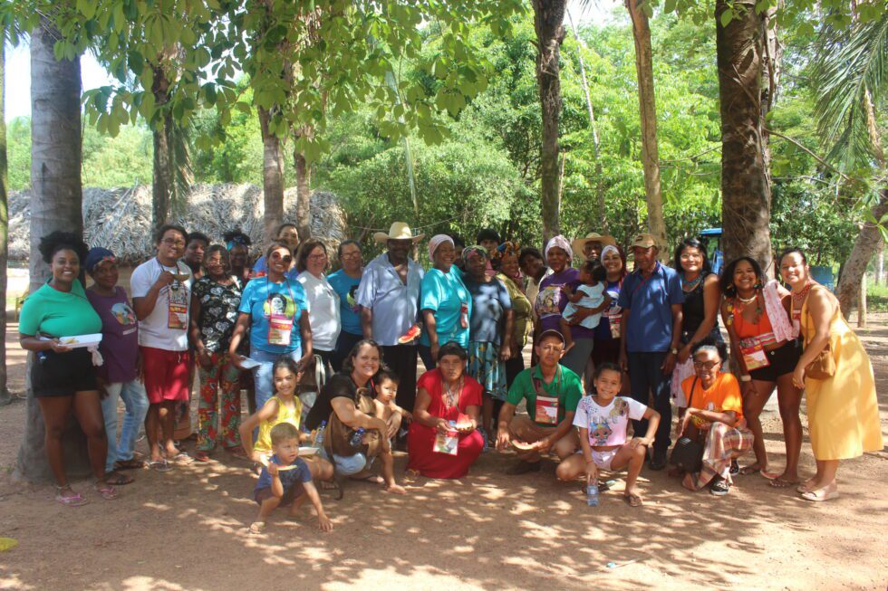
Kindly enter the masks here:
<path id="1" fill-rule="evenodd" d="M 116 499 L 113 485 L 125 479 L 105 473 L 108 441 L 91 352 L 67 347 L 62 340 L 101 333 L 101 319 L 79 279 L 88 249 L 77 234 L 58 231 L 43 236 L 39 248 L 53 276 L 24 300 L 18 339 L 22 348 L 36 353 L 31 386 L 46 425 L 46 459 L 56 482 L 55 500 L 69 507 L 88 502 L 72 491 L 64 472 L 62 434 L 72 411 L 86 434 L 95 491 L 103 499 Z"/>

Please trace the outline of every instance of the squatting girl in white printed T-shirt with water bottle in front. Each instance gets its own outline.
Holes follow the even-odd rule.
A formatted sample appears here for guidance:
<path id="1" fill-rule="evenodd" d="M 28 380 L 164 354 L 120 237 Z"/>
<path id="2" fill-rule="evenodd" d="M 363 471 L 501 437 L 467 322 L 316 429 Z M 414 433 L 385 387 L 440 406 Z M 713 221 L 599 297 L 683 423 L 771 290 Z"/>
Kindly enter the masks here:
<path id="1" fill-rule="evenodd" d="M 623 499 L 632 507 L 642 504 L 635 482 L 642 472 L 647 448 L 653 443 L 660 424 L 660 413 L 626 396 L 617 396 L 623 384 L 623 371 L 613 363 L 595 367 L 595 391 L 584 396 L 576 406 L 574 426 L 580 430 L 580 448 L 558 464 L 557 475 L 563 481 L 573 481 L 585 472 L 586 482 L 597 482 L 598 471 L 612 472 L 628 466 L 626 490 Z M 647 419 L 648 431 L 643 437 L 626 441 L 629 421 Z"/>

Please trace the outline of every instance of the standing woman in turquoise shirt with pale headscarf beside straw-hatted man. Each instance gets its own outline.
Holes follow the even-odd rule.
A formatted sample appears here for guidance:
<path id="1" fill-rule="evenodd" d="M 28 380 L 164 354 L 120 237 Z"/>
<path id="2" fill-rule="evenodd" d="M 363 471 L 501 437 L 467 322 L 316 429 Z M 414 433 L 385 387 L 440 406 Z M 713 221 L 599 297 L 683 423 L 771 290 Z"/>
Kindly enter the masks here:
<path id="1" fill-rule="evenodd" d="M 425 329 L 420 337 L 420 357 L 426 369 L 434 369 L 438 349 L 454 341 L 468 348 L 468 318 L 472 313 L 472 299 L 462 272 L 453 265 L 456 251 L 453 239 L 438 234 L 429 241 L 429 259 L 433 266 L 422 277 L 420 310 Z"/>

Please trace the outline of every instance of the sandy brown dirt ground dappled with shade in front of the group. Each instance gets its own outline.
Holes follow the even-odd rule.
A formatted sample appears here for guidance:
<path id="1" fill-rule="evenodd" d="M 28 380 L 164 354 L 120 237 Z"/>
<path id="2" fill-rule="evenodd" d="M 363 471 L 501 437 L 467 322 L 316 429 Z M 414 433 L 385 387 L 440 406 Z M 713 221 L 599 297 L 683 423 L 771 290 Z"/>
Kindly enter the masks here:
<path id="1" fill-rule="evenodd" d="M 888 319 L 861 332 L 873 358 L 888 442 Z M 24 354 L 7 337 L 10 386 L 24 388 Z M 11 337 L 11 338 L 10 338 Z M 784 459 L 777 406 L 764 423 Z M 805 417 L 803 415 L 803 423 Z M 642 471 L 645 504 L 622 501 L 622 475 L 600 507 L 555 464 L 511 477 L 507 454 L 485 453 L 461 481 L 420 480 L 397 497 L 364 483 L 344 500 L 324 494 L 335 529 L 275 514 L 261 536 L 254 477 L 222 454 L 160 474 L 140 471 L 118 500 L 70 509 L 49 486 L 12 480 L 24 400 L 0 408 L 0 589 L 884 589 L 888 583 L 888 453 L 843 462 L 842 496 L 813 504 L 759 476 L 729 496 L 690 493 L 665 472 Z M 140 442 L 144 451 L 144 441 Z M 188 446 L 190 448 L 190 445 Z M 396 459 L 399 480 L 406 457 Z M 806 439 L 802 472 L 814 471 Z M 285 513 L 285 511 L 279 511 Z M 613 563 L 613 564 L 612 564 Z M 610 567 L 608 565 L 611 565 Z"/>

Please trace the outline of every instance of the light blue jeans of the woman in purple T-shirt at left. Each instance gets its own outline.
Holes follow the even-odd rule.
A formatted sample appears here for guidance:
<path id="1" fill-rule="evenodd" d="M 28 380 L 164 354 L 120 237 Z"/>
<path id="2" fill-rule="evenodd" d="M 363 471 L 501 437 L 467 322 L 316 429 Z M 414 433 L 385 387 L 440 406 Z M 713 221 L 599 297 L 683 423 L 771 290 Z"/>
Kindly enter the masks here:
<path id="1" fill-rule="evenodd" d="M 107 384 L 105 391 L 108 396 L 101 400 L 101 414 L 105 419 L 105 433 L 108 435 L 108 456 L 105 460 L 105 471 L 114 469 L 114 462 L 126 462 L 132 459 L 132 451 L 136 447 L 139 428 L 148 414 L 148 396 L 145 386 L 138 379 L 130 382 L 114 382 Z M 126 414 L 123 415 L 121 427 L 121 444 L 117 444 L 117 402 L 123 399 Z"/>

